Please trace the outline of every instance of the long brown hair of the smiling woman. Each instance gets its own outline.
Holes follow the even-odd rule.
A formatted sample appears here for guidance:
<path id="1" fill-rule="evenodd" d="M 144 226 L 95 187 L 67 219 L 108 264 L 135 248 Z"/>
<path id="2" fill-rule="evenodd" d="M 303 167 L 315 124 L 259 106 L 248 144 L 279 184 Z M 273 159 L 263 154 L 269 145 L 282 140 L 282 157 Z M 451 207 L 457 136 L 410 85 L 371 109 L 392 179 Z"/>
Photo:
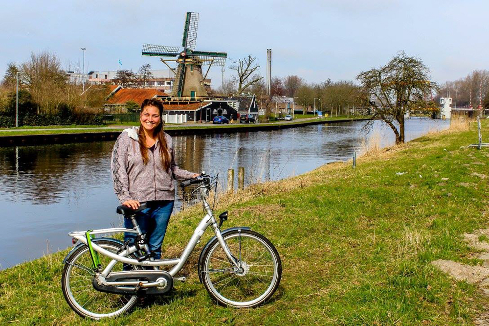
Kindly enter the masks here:
<path id="1" fill-rule="evenodd" d="M 163 132 L 163 103 L 157 99 L 147 98 L 141 104 L 141 116 L 144 109 L 148 106 L 154 106 L 158 108 L 160 123 L 156 126 L 154 135 L 157 136 L 159 142 L 159 153 L 161 155 L 161 165 L 168 171 L 171 164 L 170 151 L 168 150 L 168 144 L 166 143 L 165 133 Z M 149 161 L 148 147 L 146 146 L 146 135 L 144 134 L 142 123 L 139 124 L 139 131 L 137 132 L 139 137 L 139 150 L 141 151 L 141 156 L 143 157 L 143 163 L 147 164 Z"/>

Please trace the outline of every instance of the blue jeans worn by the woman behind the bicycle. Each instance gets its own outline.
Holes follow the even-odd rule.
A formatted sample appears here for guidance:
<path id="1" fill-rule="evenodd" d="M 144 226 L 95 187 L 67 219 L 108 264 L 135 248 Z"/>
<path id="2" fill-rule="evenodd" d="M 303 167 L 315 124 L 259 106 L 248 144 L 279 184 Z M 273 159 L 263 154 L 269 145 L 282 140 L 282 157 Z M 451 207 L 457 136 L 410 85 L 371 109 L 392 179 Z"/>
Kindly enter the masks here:
<path id="1" fill-rule="evenodd" d="M 173 211 L 173 200 L 155 200 L 147 202 L 149 208 L 141 210 L 136 214 L 136 221 L 142 233 L 146 233 L 148 245 L 151 251 L 155 252 L 155 259 L 161 257 L 161 244 L 165 237 L 166 228 L 170 221 Z M 132 229 L 133 222 L 129 218 L 124 218 L 124 227 Z M 124 233 L 124 241 L 134 242 L 134 233 Z"/>

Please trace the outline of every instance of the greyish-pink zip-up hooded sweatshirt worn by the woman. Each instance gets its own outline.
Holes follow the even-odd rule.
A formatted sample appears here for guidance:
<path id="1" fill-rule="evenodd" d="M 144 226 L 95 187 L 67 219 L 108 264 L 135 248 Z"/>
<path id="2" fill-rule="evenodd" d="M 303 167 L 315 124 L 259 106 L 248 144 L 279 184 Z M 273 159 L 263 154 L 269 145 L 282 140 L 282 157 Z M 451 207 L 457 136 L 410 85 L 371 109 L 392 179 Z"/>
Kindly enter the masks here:
<path id="1" fill-rule="evenodd" d="M 115 141 L 111 169 L 117 198 L 121 204 L 127 200 L 139 202 L 175 200 L 174 177 L 190 179 L 194 173 L 177 166 L 173 140 L 166 133 L 167 148 L 170 150 L 171 157 L 170 169 L 165 171 L 161 166 L 158 140 L 153 152 L 148 149 L 149 161 L 144 164 L 139 149 L 138 129 L 138 127 L 125 129 Z"/>

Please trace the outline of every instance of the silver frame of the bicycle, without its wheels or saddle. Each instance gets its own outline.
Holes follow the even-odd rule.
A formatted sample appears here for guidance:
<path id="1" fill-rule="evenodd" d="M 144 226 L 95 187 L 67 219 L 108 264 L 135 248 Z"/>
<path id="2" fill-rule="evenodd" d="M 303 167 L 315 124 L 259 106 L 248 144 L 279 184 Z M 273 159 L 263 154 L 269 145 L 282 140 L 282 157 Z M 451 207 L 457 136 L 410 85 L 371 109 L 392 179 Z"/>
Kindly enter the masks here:
<path id="1" fill-rule="evenodd" d="M 93 250 L 98 252 L 101 255 L 108 256 L 112 258 L 113 260 L 107 265 L 107 267 L 104 269 L 104 271 L 100 274 L 103 278 L 106 278 L 109 273 L 111 272 L 112 268 L 114 265 L 117 263 L 117 261 L 126 263 L 126 264 L 131 264 L 131 265 L 139 265 L 139 266 L 173 266 L 175 265 L 168 273 L 174 277 L 177 275 L 177 273 L 182 269 L 183 265 L 187 261 L 188 257 L 190 256 L 190 253 L 192 253 L 192 250 L 194 250 L 195 246 L 197 243 L 199 243 L 200 237 L 204 234 L 205 230 L 209 225 L 212 225 L 212 228 L 214 229 L 214 233 L 216 234 L 216 238 L 218 239 L 219 243 L 221 244 L 221 247 L 224 250 L 224 253 L 226 254 L 227 258 L 229 261 L 231 261 L 236 268 L 239 268 L 238 263 L 235 261 L 234 257 L 232 256 L 229 247 L 227 246 L 226 242 L 222 238 L 221 230 L 219 229 L 219 225 L 216 222 L 216 218 L 214 217 L 214 214 L 211 210 L 211 207 L 205 200 L 205 196 L 209 192 L 209 189 L 204 186 L 200 185 L 197 187 L 197 189 L 200 189 L 200 198 L 202 200 L 203 208 L 205 210 L 205 216 L 200 220 L 199 225 L 194 231 L 194 234 L 190 238 L 190 240 L 187 243 L 187 246 L 183 250 L 182 254 L 180 255 L 179 258 L 173 258 L 173 259 L 154 259 L 154 260 L 143 260 L 143 261 L 138 261 L 137 259 L 129 258 L 130 254 L 136 252 L 138 249 L 135 246 L 130 246 L 127 248 L 124 252 L 120 253 L 119 255 L 112 253 L 100 246 L 97 245 L 96 242 L 91 242 L 91 246 Z M 99 229 L 99 230 L 93 230 L 90 232 L 90 234 L 108 234 L 108 233 L 121 233 L 121 232 L 128 232 L 128 233 L 134 233 L 134 234 L 141 234 L 140 229 L 136 228 L 134 229 L 126 229 L 126 228 L 111 228 L 111 229 Z M 82 243 L 87 244 L 87 238 L 86 238 L 86 231 L 74 231 L 68 233 L 70 236 L 78 239 Z"/>

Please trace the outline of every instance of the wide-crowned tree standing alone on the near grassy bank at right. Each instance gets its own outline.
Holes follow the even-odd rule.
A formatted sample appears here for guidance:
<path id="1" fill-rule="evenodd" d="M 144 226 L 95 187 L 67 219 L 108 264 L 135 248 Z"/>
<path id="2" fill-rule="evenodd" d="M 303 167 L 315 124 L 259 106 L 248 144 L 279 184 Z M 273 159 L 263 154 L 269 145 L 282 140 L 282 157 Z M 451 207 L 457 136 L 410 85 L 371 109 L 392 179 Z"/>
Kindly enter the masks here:
<path id="1" fill-rule="evenodd" d="M 396 143 L 403 143 L 404 115 L 412 109 L 429 107 L 426 97 L 438 90 L 429 73 L 421 59 L 408 57 L 400 51 L 387 65 L 358 74 L 356 78 L 366 95 L 365 100 L 374 107 L 369 123 L 382 119 L 396 135 Z M 394 121 L 399 123 L 399 129 Z"/>

